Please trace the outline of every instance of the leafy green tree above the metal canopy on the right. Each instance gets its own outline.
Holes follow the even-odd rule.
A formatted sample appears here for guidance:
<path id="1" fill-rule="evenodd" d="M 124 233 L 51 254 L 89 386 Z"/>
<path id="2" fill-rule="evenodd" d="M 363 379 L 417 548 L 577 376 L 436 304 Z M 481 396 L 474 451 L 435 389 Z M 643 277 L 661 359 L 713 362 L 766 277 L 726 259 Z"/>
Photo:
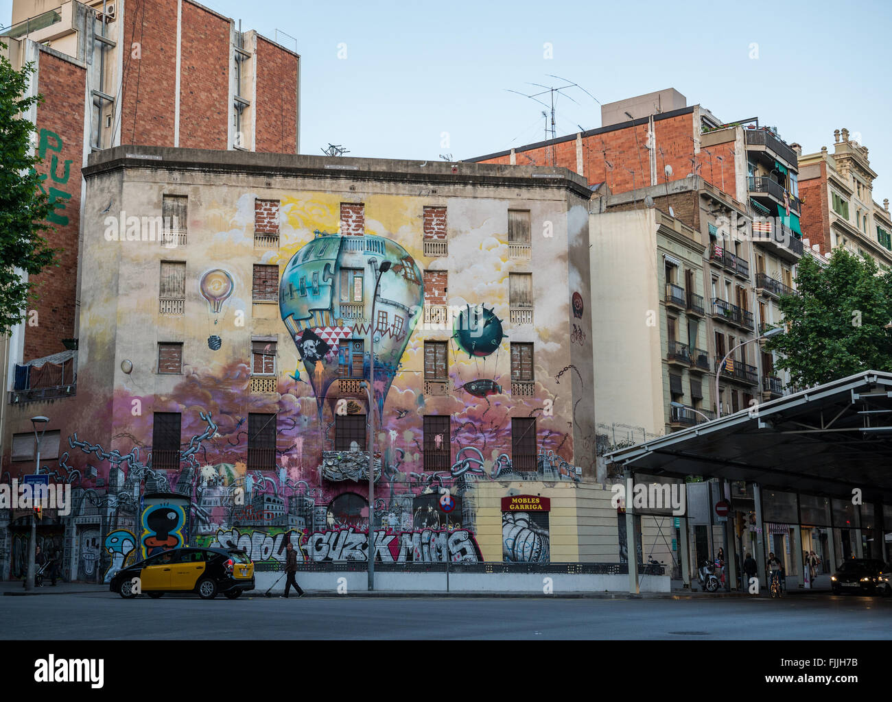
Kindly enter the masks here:
<path id="1" fill-rule="evenodd" d="M 845 378 L 861 371 L 892 371 L 892 271 L 872 258 L 836 249 L 830 264 L 804 257 L 797 291 L 780 298 L 786 331 L 768 339 L 777 367 L 795 386 Z"/>

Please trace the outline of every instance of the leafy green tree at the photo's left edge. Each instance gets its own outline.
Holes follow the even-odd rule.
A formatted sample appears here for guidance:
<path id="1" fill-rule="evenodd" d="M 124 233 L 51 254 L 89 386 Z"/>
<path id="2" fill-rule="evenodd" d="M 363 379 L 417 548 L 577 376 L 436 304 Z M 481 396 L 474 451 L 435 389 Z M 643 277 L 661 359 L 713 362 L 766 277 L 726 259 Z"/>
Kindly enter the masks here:
<path id="1" fill-rule="evenodd" d="M 0 50 L 6 45 L 0 44 Z M 40 95 L 22 97 L 34 64 L 21 71 L 0 53 L 0 334 L 22 322 L 28 311 L 32 282 L 19 271 L 37 275 L 48 265 L 58 265 L 41 232 L 50 232 L 46 217 L 54 211 L 37 175 L 40 159 L 34 152 L 37 129 L 23 118 L 26 110 L 42 102 Z"/>

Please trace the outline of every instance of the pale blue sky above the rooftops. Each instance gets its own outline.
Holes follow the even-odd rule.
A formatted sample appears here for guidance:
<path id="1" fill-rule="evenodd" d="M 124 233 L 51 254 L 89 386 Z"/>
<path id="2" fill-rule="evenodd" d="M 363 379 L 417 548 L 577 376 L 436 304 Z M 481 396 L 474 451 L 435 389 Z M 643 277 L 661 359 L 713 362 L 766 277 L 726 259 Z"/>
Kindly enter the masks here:
<path id="1" fill-rule="evenodd" d="M 468 159 L 546 138 L 541 104 L 508 90 L 584 88 L 558 95 L 560 136 L 600 127 L 599 102 L 674 87 L 803 153 L 832 153 L 847 127 L 880 174 L 873 199 L 892 200 L 888 0 L 204 4 L 301 54 L 301 153 Z M 0 21 L 11 14 L 0 0 Z"/>

